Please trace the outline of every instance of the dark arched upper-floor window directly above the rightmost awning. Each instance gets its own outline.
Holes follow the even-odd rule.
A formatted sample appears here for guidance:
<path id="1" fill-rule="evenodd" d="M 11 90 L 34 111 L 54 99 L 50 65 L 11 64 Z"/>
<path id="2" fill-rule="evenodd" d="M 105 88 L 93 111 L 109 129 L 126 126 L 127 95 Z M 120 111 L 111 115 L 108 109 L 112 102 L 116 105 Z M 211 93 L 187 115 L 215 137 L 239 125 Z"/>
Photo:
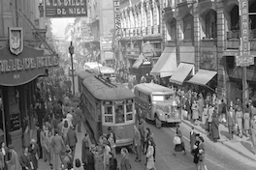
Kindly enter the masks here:
<path id="1" fill-rule="evenodd" d="M 206 14 L 206 38 L 214 39 L 217 37 L 217 14 L 210 10 Z"/>

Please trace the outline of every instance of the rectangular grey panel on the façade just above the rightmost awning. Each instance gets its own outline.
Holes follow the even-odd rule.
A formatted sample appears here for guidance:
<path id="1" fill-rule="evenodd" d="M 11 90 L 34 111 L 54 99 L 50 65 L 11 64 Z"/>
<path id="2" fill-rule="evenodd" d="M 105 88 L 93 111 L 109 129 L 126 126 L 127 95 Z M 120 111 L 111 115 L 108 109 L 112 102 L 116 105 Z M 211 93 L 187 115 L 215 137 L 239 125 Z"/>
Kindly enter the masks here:
<path id="1" fill-rule="evenodd" d="M 215 47 L 202 47 L 200 55 L 200 69 L 217 71 L 217 57 Z"/>

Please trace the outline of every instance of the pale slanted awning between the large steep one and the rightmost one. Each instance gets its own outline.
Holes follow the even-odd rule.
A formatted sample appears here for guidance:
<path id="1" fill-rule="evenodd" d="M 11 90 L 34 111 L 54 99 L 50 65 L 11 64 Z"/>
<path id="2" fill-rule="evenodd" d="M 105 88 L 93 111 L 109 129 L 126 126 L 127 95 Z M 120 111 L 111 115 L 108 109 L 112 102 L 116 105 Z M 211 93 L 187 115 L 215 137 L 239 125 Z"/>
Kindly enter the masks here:
<path id="1" fill-rule="evenodd" d="M 193 68 L 194 65 L 192 64 L 180 63 L 175 73 L 171 76 L 170 82 L 181 85 Z"/>

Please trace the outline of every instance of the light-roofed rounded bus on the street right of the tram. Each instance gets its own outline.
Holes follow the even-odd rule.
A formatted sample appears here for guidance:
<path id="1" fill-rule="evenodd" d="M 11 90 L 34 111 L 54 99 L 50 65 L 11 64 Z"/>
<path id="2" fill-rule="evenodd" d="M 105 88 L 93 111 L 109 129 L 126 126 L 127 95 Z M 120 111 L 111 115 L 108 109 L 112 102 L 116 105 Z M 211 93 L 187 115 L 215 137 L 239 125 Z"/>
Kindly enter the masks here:
<path id="1" fill-rule="evenodd" d="M 154 83 L 142 83 L 135 86 L 134 94 L 136 107 L 141 108 L 145 119 L 154 121 L 157 128 L 164 123 L 181 122 L 174 90 Z"/>

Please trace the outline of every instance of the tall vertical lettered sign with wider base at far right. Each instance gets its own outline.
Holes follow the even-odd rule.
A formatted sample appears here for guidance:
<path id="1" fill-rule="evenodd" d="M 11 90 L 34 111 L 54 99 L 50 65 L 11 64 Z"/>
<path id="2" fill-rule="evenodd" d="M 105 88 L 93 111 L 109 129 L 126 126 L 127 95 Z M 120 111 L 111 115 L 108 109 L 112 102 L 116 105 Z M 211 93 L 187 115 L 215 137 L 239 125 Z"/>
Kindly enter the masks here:
<path id="1" fill-rule="evenodd" d="M 254 57 L 249 55 L 249 3 L 240 0 L 240 56 L 237 56 L 237 66 L 254 65 Z"/>

